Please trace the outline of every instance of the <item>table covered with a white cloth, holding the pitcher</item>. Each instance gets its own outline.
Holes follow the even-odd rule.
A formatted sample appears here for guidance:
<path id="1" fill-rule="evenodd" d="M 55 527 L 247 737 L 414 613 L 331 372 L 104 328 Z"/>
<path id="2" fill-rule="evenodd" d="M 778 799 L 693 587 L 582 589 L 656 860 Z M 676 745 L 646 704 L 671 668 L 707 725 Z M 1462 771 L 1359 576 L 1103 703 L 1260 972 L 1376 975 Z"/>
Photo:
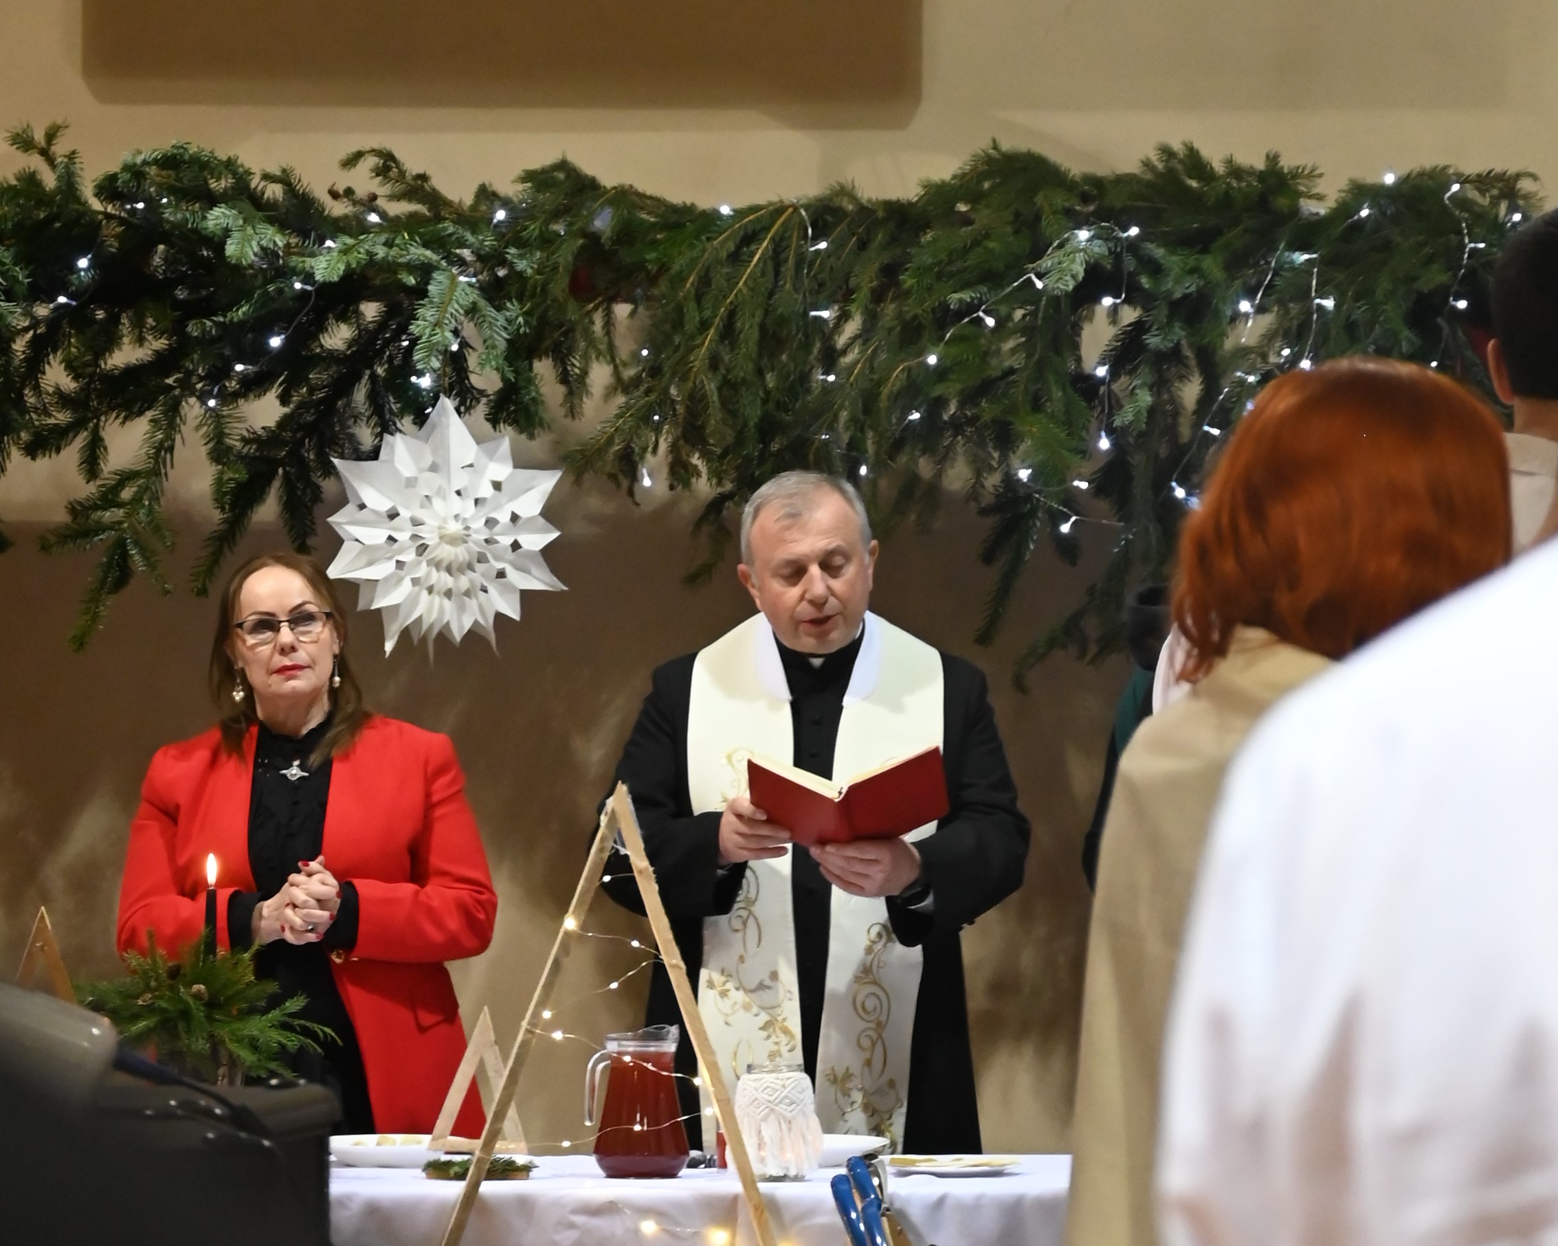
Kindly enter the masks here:
<path id="1" fill-rule="evenodd" d="M 528 1181 L 494 1181 L 466 1226 L 466 1246 L 751 1246 L 740 1185 L 728 1170 L 675 1181 L 608 1181 L 589 1156 L 542 1156 Z M 784 1246 L 846 1241 L 827 1188 L 840 1170 L 765 1182 Z M 888 1196 L 915 1246 L 1059 1246 L 1070 1156 L 1024 1156 L 1003 1177 L 893 1176 Z M 460 1182 L 414 1168 L 330 1170 L 335 1246 L 438 1246 Z"/>

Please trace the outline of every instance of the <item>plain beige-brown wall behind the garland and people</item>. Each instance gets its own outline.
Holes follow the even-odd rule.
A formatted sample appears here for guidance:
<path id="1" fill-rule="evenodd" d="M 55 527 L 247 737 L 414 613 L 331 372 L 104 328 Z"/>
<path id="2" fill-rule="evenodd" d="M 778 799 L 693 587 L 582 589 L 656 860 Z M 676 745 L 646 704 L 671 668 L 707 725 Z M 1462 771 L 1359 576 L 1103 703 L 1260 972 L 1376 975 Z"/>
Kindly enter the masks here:
<path id="1" fill-rule="evenodd" d="M 0 121 L 72 121 L 90 173 L 174 139 L 287 162 L 318 185 L 338 178 L 341 153 L 386 143 L 455 193 L 567 154 L 706 202 L 837 179 L 905 193 L 991 137 L 1089 168 L 1183 139 L 1250 159 L 1276 148 L 1332 178 L 1558 167 L 1558 8 L 1542 0 L 6 0 L 3 17 Z M 199 481 L 185 470 L 176 491 L 181 565 L 201 531 Z M 111 969 L 140 774 L 207 715 L 207 603 L 139 586 L 86 654 L 65 649 L 87 564 L 34 547 L 70 487 L 69 464 L 20 464 L 0 481 L 19 540 L 0 559 L 0 969 L 41 902 L 78 972 Z M 636 509 L 600 486 L 561 486 L 547 514 L 564 533 L 548 559 L 570 590 L 527 597 L 525 620 L 500 625 L 502 654 L 474 640 L 433 662 L 402 648 L 365 663 L 380 709 L 447 730 L 466 763 L 502 906 L 492 950 L 456 981 L 467 1012 L 491 1005 L 505 1037 L 650 667 L 745 609 L 728 581 L 679 586 L 682 502 L 651 494 Z M 1002 642 L 974 651 L 989 584 L 978 533 L 949 498 L 930 533 L 890 544 L 877 604 L 994 684 L 1035 847 L 1024 891 L 964 941 L 980 1100 L 986 1145 L 1058 1149 L 1086 920 L 1077 849 L 1123 667 L 1055 660 L 1016 695 L 1005 676 L 1019 639 L 1078 581 L 1039 565 Z M 277 540 L 266 526 L 251 547 Z M 374 648 L 377 623 L 360 635 Z M 600 928 L 633 925 L 603 908 Z M 562 994 L 605 984 L 631 964 L 623 952 L 581 947 Z M 583 1000 L 569 1028 L 623 1025 L 639 998 Z M 583 1132 L 584 1054 L 542 1050 L 522 1089 L 533 1137 Z"/>

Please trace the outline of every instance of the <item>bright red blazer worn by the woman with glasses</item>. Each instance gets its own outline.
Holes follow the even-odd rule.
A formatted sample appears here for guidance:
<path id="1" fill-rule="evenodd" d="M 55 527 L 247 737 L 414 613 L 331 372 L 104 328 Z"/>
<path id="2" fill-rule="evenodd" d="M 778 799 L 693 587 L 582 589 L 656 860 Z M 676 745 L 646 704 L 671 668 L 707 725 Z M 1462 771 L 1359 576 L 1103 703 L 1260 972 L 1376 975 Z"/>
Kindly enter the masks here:
<path id="1" fill-rule="evenodd" d="M 206 854 L 217 854 L 217 942 L 229 947 L 227 899 L 254 891 L 249 872 L 251 727 L 241 755 L 213 727 L 157 751 L 129 829 L 118 896 L 118 949 L 146 936 L 171 953 L 206 920 Z M 352 952 L 332 952 L 335 984 L 357 1030 L 374 1125 L 425 1134 L 464 1054 L 460 1006 L 444 961 L 492 941 L 497 894 L 449 738 L 369 718 L 330 768 L 324 863 L 357 886 Z M 466 1095 L 455 1131 L 477 1137 Z"/>

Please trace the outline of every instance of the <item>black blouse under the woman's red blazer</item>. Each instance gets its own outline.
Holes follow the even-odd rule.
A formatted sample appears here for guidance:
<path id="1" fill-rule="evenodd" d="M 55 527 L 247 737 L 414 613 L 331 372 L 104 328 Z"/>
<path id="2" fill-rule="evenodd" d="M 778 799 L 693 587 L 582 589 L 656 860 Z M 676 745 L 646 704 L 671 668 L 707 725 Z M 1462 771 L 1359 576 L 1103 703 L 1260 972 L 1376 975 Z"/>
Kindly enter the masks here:
<path id="1" fill-rule="evenodd" d="M 302 737 L 279 735 L 263 723 L 254 748 L 249 787 L 249 871 L 257 891 L 234 892 L 227 903 L 227 931 L 234 947 L 248 947 L 254 908 L 274 896 L 301 861 L 312 861 L 324 844 L 324 810 L 330 797 L 330 759 L 315 766 L 308 755 L 324 738 L 326 718 Z M 329 860 L 326 866 L 329 868 Z M 335 986 L 330 952 L 357 944 L 357 888 L 341 883 L 341 905 L 316 944 L 274 939 L 254 956 L 256 973 L 276 983 L 273 1003 L 302 995 L 302 1020 L 329 1026 L 337 1040 L 321 1051 L 296 1051 L 288 1064 L 299 1078 L 329 1086 L 341 1100 L 341 1132 L 374 1132 L 372 1106 L 363 1054 L 351 1014 Z"/>

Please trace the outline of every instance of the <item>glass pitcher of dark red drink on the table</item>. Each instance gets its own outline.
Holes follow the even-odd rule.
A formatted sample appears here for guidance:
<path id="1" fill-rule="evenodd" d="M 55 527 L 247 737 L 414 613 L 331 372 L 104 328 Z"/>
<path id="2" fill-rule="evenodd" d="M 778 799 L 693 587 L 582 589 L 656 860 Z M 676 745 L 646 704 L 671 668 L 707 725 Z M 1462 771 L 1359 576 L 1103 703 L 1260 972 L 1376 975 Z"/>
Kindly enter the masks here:
<path id="1" fill-rule="evenodd" d="M 608 1177 L 673 1177 L 687 1167 L 687 1131 L 676 1098 L 679 1039 L 681 1026 L 651 1025 L 608 1034 L 606 1050 L 590 1058 L 584 1125 L 598 1126 L 595 1162 Z M 606 1101 L 600 1104 L 603 1072 Z"/>

